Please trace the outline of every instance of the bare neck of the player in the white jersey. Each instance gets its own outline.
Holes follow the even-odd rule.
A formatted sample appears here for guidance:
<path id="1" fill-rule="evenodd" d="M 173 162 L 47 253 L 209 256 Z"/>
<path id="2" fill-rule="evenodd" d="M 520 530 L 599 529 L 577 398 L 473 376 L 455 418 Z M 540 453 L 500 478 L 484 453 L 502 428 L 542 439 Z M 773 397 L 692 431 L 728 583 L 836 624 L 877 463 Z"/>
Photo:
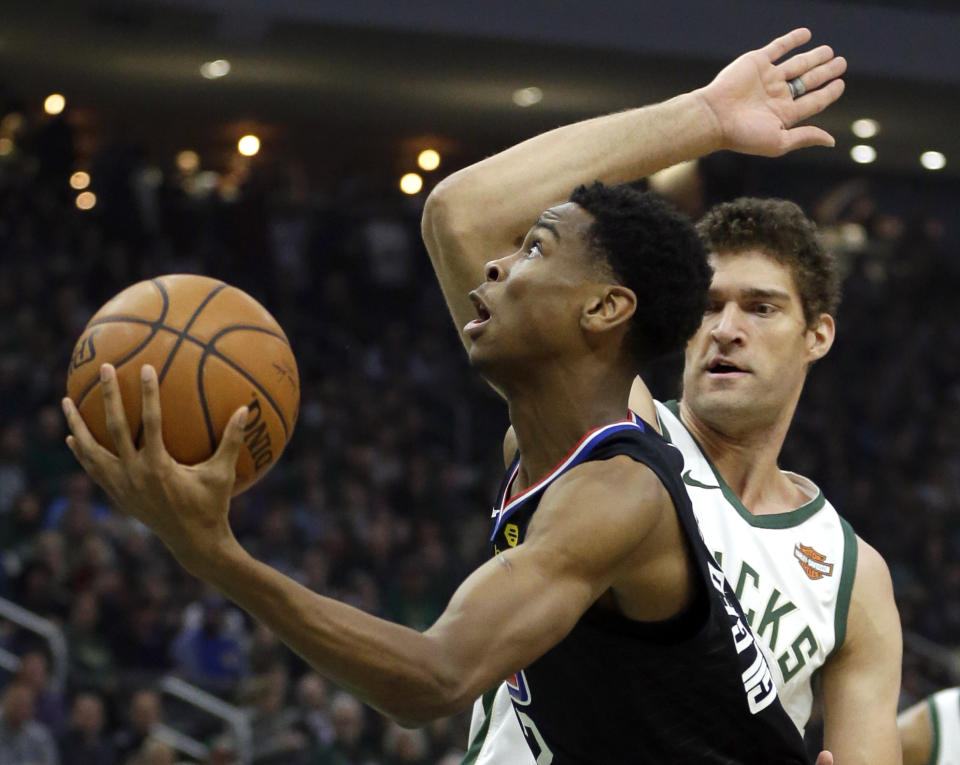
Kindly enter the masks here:
<path id="1" fill-rule="evenodd" d="M 684 401 L 680 419 L 744 507 L 768 515 L 795 510 L 808 499 L 777 464 L 795 408 L 794 403 L 769 422 L 735 432 L 705 422 Z"/>

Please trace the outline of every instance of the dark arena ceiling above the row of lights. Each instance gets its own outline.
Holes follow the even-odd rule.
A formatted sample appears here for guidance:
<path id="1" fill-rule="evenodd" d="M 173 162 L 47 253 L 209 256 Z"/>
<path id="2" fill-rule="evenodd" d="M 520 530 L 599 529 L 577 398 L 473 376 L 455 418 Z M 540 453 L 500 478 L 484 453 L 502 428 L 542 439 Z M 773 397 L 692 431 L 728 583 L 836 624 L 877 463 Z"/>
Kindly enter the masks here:
<path id="1" fill-rule="evenodd" d="M 718 10 L 722 7 L 722 11 Z M 738 51 L 805 23 L 850 59 L 819 119 L 848 165 L 850 123 L 881 124 L 873 168 L 914 173 L 937 149 L 960 176 L 960 5 L 954 0 L 7 0 L 5 91 L 68 96 L 85 146 L 122 123 L 155 152 L 221 159 L 253 129 L 317 163 L 409 162 L 428 139 L 466 161 L 563 122 L 706 82 Z M 201 63 L 226 58 L 220 80 Z M 517 107 L 536 86 L 543 100 Z"/>

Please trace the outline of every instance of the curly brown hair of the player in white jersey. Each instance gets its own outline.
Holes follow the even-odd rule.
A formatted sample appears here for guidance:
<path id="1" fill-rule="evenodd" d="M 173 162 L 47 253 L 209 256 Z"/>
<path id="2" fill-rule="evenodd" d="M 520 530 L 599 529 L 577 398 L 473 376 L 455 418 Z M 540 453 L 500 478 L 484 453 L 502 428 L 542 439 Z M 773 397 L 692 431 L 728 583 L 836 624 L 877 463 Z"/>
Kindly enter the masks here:
<path id="1" fill-rule="evenodd" d="M 697 224 L 704 246 L 718 254 L 759 250 L 790 269 L 803 318 L 812 327 L 840 304 L 840 274 L 817 227 L 786 199 L 741 197 L 707 211 Z"/>

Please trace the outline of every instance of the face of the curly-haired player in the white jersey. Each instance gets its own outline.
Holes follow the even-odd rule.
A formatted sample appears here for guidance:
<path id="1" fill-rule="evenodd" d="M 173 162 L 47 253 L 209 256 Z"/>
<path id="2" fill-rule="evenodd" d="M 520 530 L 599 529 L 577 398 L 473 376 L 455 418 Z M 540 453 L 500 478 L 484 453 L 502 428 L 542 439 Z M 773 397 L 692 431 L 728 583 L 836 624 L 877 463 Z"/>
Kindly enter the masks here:
<path id="1" fill-rule="evenodd" d="M 792 416 L 809 364 L 833 342 L 833 320 L 823 314 L 807 327 L 789 267 L 760 251 L 712 253 L 710 265 L 707 310 L 687 343 L 683 402 L 732 436 Z"/>

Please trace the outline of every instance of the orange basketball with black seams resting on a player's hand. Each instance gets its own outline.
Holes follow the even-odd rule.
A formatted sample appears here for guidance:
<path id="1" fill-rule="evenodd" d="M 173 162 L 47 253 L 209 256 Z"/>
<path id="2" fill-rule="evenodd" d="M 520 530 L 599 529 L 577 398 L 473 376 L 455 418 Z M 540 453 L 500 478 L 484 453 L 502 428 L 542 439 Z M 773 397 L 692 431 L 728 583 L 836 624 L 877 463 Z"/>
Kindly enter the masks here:
<path id="1" fill-rule="evenodd" d="M 141 443 L 140 369 L 160 383 L 163 442 L 178 462 L 210 457 L 230 416 L 250 413 L 234 495 L 273 466 L 297 419 L 300 379 L 287 336 L 250 295 L 216 279 L 172 274 L 138 282 L 90 319 L 74 346 L 67 395 L 99 443 L 107 432 L 100 366 L 113 364 L 134 443 Z"/>

